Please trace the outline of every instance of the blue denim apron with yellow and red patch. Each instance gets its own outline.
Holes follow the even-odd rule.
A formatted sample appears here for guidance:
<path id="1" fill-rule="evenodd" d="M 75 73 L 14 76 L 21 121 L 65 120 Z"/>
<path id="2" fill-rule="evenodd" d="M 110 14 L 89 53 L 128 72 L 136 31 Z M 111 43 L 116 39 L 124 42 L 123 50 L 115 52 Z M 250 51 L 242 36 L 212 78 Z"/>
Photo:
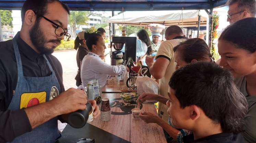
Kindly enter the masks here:
<path id="1" fill-rule="evenodd" d="M 19 33 L 16 34 L 12 41 L 17 61 L 18 80 L 14 95 L 8 107 L 9 110 L 19 110 L 21 108 L 31 107 L 33 105 L 47 102 L 49 99 L 56 97 L 60 91 L 60 85 L 57 77 L 45 55 L 44 58 L 52 74 L 48 77 L 24 77 L 21 56 L 16 42 L 18 36 Z M 15 120 L 19 121 L 19 119 Z M 31 132 L 27 132 L 16 137 L 12 142 L 54 143 L 60 136 L 58 120 L 57 117 L 54 117 L 44 124 L 34 128 Z"/>

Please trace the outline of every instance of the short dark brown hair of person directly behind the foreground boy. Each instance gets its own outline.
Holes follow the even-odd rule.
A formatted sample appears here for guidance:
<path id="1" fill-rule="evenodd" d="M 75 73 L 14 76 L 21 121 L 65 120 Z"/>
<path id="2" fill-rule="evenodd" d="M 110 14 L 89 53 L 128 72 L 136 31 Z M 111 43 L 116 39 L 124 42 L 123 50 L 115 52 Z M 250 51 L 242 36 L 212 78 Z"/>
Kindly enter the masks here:
<path id="1" fill-rule="evenodd" d="M 193 59 L 197 61 L 212 61 L 210 48 L 205 41 L 200 38 L 188 39 L 174 47 L 173 51 L 180 51 L 182 56 L 181 58 L 186 63 L 191 63 Z"/>

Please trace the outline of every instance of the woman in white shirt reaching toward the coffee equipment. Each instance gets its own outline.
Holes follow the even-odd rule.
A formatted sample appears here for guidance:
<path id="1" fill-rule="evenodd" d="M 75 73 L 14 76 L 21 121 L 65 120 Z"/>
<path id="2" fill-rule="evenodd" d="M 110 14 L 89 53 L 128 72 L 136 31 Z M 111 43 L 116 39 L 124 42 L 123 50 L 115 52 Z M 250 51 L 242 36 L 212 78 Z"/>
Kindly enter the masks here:
<path id="1" fill-rule="evenodd" d="M 97 79 L 99 85 L 103 87 L 109 75 L 116 76 L 119 80 L 124 78 L 127 71 L 129 71 L 128 67 L 124 65 L 111 66 L 102 61 L 106 47 L 101 35 L 96 33 L 89 34 L 86 45 L 90 52 L 82 61 L 81 79 L 83 88 L 87 86 L 89 81 L 94 79 Z"/>

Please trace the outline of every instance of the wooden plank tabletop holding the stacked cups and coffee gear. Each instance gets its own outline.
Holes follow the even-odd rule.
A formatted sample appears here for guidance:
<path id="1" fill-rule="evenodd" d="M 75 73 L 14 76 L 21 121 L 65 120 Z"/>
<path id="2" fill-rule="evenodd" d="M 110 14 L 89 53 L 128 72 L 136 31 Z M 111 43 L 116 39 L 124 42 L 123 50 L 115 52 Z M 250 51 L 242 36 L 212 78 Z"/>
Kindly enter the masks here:
<path id="1" fill-rule="evenodd" d="M 125 88 L 126 85 L 106 85 L 104 88 L 102 88 L 102 91 L 120 92 L 121 87 Z M 109 98 L 110 103 L 113 101 L 119 102 L 121 104 L 122 102 L 124 103 L 122 99 L 118 99 L 121 98 L 120 94 L 107 93 L 102 94 L 101 97 Z M 143 104 L 142 111 L 149 111 L 157 114 L 154 104 Z M 146 124 L 140 118 L 133 118 L 132 114 L 113 115 L 113 112 L 122 114 L 123 111 L 120 106 L 111 107 L 111 112 L 112 114 L 110 121 L 102 121 L 100 120 L 99 116 L 89 124 L 132 143 L 166 143 L 163 129 L 157 124 Z"/>

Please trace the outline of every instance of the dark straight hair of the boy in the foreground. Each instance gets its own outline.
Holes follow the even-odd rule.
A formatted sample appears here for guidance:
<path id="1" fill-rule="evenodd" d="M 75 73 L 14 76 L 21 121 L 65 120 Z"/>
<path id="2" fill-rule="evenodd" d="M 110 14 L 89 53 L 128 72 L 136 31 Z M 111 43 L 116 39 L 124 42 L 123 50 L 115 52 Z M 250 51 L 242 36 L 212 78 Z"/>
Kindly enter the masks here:
<path id="1" fill-rule="evenodd" d="M 243 131 L 247 101 L 232 74 L 211 62 L 195 62 L 177 69 L 169 82 L 181 108 L 196 105 L 223 132 Z M 185 86 L 184 86 L 185 85 Z"/>

